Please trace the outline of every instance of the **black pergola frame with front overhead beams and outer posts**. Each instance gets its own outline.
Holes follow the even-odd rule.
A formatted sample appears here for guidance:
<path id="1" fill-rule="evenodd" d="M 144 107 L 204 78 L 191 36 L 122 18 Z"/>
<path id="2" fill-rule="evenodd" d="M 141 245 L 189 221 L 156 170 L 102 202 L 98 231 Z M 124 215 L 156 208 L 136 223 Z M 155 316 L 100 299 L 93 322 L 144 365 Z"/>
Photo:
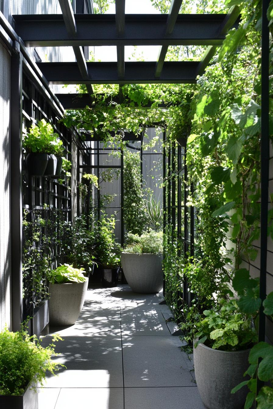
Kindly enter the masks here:
<path id="1" fill-rule="evenodd" d="M 79 2 L 80 3 L 80 2 Z M 114 15 L 74 14 L 70 0 L 59 0 L 61 15 L 13 16 L 14 27 L 0 13 L 0 37 L 12 54 L 11 63 L 11 245 L 13 254 L 22 251 L 22 199 L 18 175 L 21 174 L 22 148 L 20 138 L 22 112 L 22 69 L 35 77 L 37 86 L 43 88 L 47 101 L 61 116 L 63 108 L 84 108 L 94 104 L 92 84 L 126 83 L 195 83 L 210 63 L 223 42 L 227 31 L 237 27 L 239 9 L 232 7 L 228 14 L 179 14 L 182 0 L 172 0 L 169 14 L 125 14 L 125 0 L 116 0 Z M 268 63 L 269 31 L 266 19 L 268 0 L 263 1 L 262 24 L 262 137 L 261 137 L 261 264 L 260 298 L 266 297 L 266 252 L 268 212 Z M 83 2 L 81 2 L 83 4 Z M 92 11 L 92 9 L 90 9 Z M 113 45 L 117 47 L 117 63 L 86 62 L 85 46 Z M 154 62 L 125 62 L 126 45 L 160 45 L 158 60 Z M 201 61 L 165 61 L 169 45 L 202 45 L 207 50 Z M 77 63 L 34 63 L 26 47 L 72 46 Z M 86 84 L 88 94 L 77 98 L 75 94 L 58 94 L 61 103 L 48 88 L 49 84 Z M 46 89 L 45 89 L 46 88 Z M 62 104 L 62 105 L 61 105 Z M 20 294 L 21 278 L 18 276 L 21 261 L 12 266 L 13 294 Z M 16 277 L 18 280 L 16 280 Z M 18 311 L 20 297 L 14 297 L 13 310 Z M 261 310 L 262 311 L 262 310 Z M 14 312 L 14 323 L 18 323 Z M 265 315 L 259 318 L 259 340 L 264 340 Z"/>

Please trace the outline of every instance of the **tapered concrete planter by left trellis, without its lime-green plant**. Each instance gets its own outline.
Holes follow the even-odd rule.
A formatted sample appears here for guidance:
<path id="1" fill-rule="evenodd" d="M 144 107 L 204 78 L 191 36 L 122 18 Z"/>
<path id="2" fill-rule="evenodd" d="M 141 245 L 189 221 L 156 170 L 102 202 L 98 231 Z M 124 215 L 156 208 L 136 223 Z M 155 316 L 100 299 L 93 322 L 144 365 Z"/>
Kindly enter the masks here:
<path id="1" fill-rule="evenodd" d="M 83 307 L 88 279 L 83 283 L 50 284 L 50 325 L 73 325 Z"/>

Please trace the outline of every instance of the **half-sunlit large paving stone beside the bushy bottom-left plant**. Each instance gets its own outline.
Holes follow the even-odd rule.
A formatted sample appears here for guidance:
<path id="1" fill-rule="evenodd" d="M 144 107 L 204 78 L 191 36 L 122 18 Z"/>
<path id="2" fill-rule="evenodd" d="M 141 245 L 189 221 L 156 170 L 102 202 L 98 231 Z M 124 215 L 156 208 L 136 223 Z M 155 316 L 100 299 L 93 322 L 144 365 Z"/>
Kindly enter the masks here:
<path id="1" fill-rule="evenodd" d="M 44 342 L 46 341 L 46 342 Z M 43 345 L 50 337 L 43 339 Z M 47 377 L 47 387 L 123 387 L 122 346 L 119 337 L 65 337 L 56 343 L 54 360 L 67 369 Z"/>

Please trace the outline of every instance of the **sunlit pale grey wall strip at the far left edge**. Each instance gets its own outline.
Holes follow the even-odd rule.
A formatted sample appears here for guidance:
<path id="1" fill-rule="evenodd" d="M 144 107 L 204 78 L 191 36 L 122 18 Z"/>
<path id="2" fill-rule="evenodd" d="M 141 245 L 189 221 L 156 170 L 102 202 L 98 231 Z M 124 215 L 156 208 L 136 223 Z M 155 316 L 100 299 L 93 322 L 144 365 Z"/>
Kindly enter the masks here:
<path id="1" fill-rule="evenodd" d="M 0 42 L 0 330 L 11 328 L 10 54 Z"/>

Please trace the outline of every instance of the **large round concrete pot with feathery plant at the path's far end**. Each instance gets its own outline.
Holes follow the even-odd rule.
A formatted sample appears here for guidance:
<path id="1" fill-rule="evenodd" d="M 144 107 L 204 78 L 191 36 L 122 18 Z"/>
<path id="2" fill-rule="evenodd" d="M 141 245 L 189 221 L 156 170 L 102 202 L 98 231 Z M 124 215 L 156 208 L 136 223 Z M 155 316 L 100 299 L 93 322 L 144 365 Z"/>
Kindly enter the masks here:
<path id="1" fill-rule="evenodd" d="M 129 233 L 121 253 L 124 276 L 135 292 L 156 293 L 162 289 L 162 233 Z"/>

